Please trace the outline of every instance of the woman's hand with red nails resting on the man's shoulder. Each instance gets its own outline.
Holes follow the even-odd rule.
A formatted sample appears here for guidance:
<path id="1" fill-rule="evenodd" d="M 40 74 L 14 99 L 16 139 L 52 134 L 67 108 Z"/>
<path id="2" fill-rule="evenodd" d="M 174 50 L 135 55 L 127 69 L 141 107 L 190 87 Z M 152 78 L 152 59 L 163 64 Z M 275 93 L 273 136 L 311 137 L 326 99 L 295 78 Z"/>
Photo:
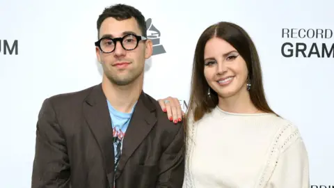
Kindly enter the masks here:
<path id="1" fill-rule="evenodd" d="M 182 121 L 184 111 L 182 111 L 180 101 L 177 98 L 166 97 L 158 102 L 161 109 L 167 113 L 169 120 L 173 120 L 174 123 Z"/>

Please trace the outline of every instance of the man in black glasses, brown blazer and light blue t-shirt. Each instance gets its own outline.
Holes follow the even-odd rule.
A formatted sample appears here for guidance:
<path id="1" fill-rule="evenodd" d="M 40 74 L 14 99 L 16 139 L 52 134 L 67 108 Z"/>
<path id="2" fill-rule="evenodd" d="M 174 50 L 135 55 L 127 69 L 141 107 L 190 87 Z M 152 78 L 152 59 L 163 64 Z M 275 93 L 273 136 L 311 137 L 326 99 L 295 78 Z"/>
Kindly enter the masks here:
<path id="1" fill-rule="evenodd" d="M 143 92 L 152 55 L 145 18 L 118 4 L 100 15 L 97 31 L 102 84 L 43 102 L 32 187 L 182 187 L 183 126 Z"/>

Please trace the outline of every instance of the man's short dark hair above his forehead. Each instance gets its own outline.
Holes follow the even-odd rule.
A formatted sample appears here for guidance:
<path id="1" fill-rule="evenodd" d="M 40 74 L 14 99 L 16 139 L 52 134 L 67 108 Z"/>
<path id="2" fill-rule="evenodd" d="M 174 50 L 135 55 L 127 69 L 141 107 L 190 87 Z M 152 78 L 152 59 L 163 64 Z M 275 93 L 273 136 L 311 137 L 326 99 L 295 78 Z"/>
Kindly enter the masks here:
<path id="1" fill-rule="evenodd" d="M 100 28 L 104 19 L 108 17 L 113 17 L 119 21 L 124 19 L 130 19 L 134 17 L 136 19 L 139 29 L 141 29 L 141 35 L 146 37 L 146 22 L 145 17 L 141 13 L 141 11 L 137 10 L 133 6 L 128 6 L 125 4 L 116 4 L 113 6 L 109 6 L 104 8 L 102 14 L 97 19 L 97 36 L 100 34 Z"/>

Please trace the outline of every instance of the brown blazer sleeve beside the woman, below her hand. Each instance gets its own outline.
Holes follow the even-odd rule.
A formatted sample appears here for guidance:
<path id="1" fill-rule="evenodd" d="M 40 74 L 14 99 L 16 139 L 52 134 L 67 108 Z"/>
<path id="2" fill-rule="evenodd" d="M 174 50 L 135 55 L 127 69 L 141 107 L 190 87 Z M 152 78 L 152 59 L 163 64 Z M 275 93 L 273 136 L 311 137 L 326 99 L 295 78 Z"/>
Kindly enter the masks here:
<path id="1" fill-rule="evenodd" d="M 157 187 L 181 188 L 184 180 L 184 126 L 178 123 L 179 130 L 166 148 L 159 162 Z"/>

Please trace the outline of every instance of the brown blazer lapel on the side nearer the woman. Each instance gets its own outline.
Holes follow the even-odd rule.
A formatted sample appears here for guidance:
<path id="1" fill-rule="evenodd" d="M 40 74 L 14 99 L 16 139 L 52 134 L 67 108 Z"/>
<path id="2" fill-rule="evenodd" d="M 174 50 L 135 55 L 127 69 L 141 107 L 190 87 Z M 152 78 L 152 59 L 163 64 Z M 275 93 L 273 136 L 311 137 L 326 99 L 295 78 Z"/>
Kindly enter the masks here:
<path id="1" fill-rule="evenodd" d="M 127 127 L 127 132 L 125 132 L 122 143 L 122 155 L 115 174 L 116 179 L 120 176 L 134 150 L 138 148 L 157 122 L 155 110 L 153 102 L 142 92 L 129 122 L 129 127 Z"/>

